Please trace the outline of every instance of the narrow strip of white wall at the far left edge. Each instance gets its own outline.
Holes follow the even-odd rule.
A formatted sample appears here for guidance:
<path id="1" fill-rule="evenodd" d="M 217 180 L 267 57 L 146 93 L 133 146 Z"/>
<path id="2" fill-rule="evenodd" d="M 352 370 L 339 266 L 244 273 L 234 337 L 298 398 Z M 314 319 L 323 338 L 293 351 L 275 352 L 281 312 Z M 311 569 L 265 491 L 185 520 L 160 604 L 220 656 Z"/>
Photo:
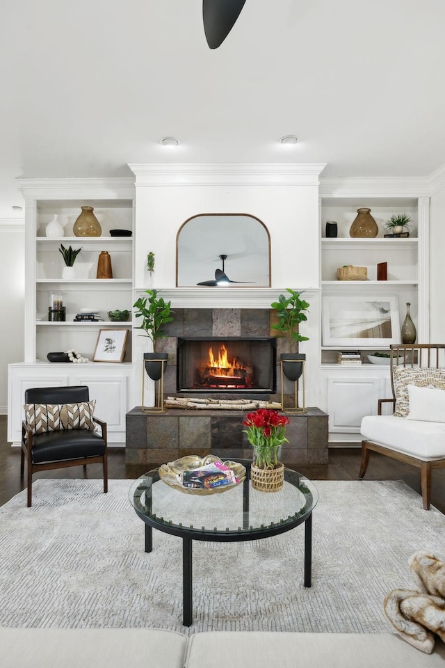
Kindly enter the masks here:
<path id="1" fill-rule="evenodd" d="M 24 360 L 24 222 L 0 222 L 0 413 L 8 413 L 8 364 Z"/>

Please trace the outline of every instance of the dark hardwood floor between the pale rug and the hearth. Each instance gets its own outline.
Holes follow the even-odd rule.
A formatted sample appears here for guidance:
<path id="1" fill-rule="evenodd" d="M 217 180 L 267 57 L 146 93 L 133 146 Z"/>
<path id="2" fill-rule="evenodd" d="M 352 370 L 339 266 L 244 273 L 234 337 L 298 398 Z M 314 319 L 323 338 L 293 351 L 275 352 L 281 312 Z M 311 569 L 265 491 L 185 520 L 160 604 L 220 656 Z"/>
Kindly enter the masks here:
<path id="1" fill-rule="evenodd" d="M 20 448 L 12 447 L 6 441 L 6 415 L 0 415 L 0 505 L 6 503 L 15 494 L 25 488 L 25 479 L 20 477 Z M 295 466 L 312 480 L 357 480 L 360 462 L 359 447 L 333 447 L 329 452 L 329 463 Z M 128 466 L 125 464 L 123 447 L 108 448 L 108 477 L 110 479 L 134 479 L 146 470 L 159 466 L 162 462 L 152 462 L 144 466 Z M 291 466 L 291 468 L 293 468 Z M 38 478 L 102 478 L 102 466 L 90 464 L 62 468 L 53 471 L 42 471 L 34 475 Z M 365 476 L 366 480 L 404 480 L 407 485 L 419 493 L 419 469 L 408 464 L 389 459 L 377 453 L 371 453 L 371 460 Z M 445 469 L 432 472 L 432 504 L 445 514 Z"/>

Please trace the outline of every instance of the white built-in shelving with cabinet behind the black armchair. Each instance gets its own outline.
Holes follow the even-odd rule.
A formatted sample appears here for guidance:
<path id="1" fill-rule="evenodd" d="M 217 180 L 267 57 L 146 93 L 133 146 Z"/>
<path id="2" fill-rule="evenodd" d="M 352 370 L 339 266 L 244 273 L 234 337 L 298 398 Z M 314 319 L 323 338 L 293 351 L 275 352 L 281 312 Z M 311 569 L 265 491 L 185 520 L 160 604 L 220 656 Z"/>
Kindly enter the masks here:
<path id="1" fill-rule="evenodd" d="M 51 385 L 88 385 L 97 400 L 96 413 L 108 423 L 110 443 L 124 443 L 125 415 L 133 406 L 132 322 L 113 322 L 111 310 L 132 310 L 134 184 L 129 179 L 32 179 L 20 182 L 25 200 L 25 354 L 24 363 L 10 365 L 8 439 L 17 441 L 24 390 Z M 76 237 L 73 225 L 82 206 L 94 208 L 102 234 Z M 60 237 L 47 237 L 48 223 L 57 216 Z M 130 237 L 112 237 L 110 230 L 129 230 Z M 74 262 L 76 278 L 62 278 L 65 248 L 81 248 Z M 99 253 L 108 251 L 113 278 L 98 279 Z M 65 321 L 52 321 L 50 295 L 61 294 Z M 99 314 L 99 321 L 76 321 L 81 310 Z M 128 329 L 122 363 L 92 361 L 102 329 Z M 86 364 L 50 363 L 49 352 L 75 349 Z"/>

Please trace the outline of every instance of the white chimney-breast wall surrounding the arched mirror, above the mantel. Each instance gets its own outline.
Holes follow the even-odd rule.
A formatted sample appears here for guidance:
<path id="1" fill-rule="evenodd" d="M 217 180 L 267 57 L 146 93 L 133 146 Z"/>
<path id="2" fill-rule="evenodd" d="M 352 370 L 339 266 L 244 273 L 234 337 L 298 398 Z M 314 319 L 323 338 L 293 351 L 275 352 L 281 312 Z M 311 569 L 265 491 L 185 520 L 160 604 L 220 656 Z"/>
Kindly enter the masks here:
<path id="1" fill-rule="evenodd" d="M 188 218 L 208 213 L 250 214 L 266 225 L 271 287 L 318 287 L 323 165 L 130 167 L 136 173 L 136 288 L 145 287 L 148 250 L 156 256 L 154 287 L 175 287 L 177 232 Z"/>

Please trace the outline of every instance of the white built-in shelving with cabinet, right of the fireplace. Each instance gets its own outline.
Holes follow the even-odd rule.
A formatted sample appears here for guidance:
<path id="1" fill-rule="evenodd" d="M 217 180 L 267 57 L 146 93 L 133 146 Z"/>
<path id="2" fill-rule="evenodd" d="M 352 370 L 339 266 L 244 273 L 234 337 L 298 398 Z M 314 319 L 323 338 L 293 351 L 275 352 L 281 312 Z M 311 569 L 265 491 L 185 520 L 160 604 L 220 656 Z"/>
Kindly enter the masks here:
<path id="1" fill-rule="evenodd" d="M 384 300 L 391 296 L 398 307 L 398 331 L 405 318 L 406 303 L 411 304 L 411 316 L 417 330 L 417 340 L 428 342 L 428 239 L 429 198 L 421 191 L 413 195 L 406 187 L 401 192 L 395 184 L 394 196 L 385 194 L 380 184 L 373 188 L 369 182 L 354 180 L 326 183 L 320 198 L 320 285 L 321 285 L 321 405 L 329 414 L 330 441 L 359 440 L 359 427 L 364 415 L 377 412 L 378 399 L 390 396 L 389 366 L 369 363 L 367 354 L 385 351 L 386 346 L 362 344 L 327 345 L 323 340 L 323 317 L 330 296 Z M 360 189 L 362 192 L 360 192 Z M 379 192 L 380 190 L 380 192 Z M 357 239 L 349 236 L 357 209 L 368 207 L 378 224 L 378 236 Z M 393 214 L 405 213 L 411 218 L 410 237 L 384 237 L 388 233 L 385 221 Z M 337 223 L 337 237 L 326 237 L 327 221 Z M 377 265 L 387 262 L 387 280 L 377 280 Z M 367 280 L 337 280 L 337 269 L 352 264 L 366 267 Z M 332 300 L 331 300 L 332 303 Z M 359 350 L 362 364 L 340 365 L 339 350 Z"/>

